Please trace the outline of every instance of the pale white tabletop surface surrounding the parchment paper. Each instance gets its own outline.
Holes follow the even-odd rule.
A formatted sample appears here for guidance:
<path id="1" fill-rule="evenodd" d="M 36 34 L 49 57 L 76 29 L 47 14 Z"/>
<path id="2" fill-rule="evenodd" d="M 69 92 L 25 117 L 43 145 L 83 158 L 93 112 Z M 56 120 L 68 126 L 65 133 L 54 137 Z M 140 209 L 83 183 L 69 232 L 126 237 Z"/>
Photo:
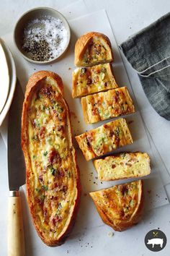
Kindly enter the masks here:
<path id="1" fill-rule="evenodd" d="M 48 6 L 55 7 L 56 9 L 61 9 L 66 7 L 73 1 L 1 1 L 0 2 L 0 35 L 5 35 L 10 33 L 14 27 L 14 23 L 17 18 L 27 9 L 37 7 L 37 6 Z M 168 12 L 170 3 L 169 1 L 90 1 L 86 0 L 86 7 L 89 12 L 96 11 L 98 9 L 106 9 L 109 16 L 109 21 L 112 25 L 112 29 L 116 35 L 118 43 L 125 40 L 128 35 L 135 33 L 140 28 L 148 25 L 156 18 L 160 17 L 162 14 Z M 77 15 L 81 13 L 81 9 L 76 9 Z M 70 16 L 72 13 L 70 13 Z M 2 22 L 3 21 L 3 22 Z M 161 158 L 164 160 L 164 164 L 167 168 L 170 167 L 169 159 L 169 145 L 170 145 L 170 135 L 169 122 L 160 118 L 158 114 L 153 111 L 148 103 L 146 96 L 144 95 L 138 77 L 135 76 L 133 70 L 128 67 L 128 74 L 132 85 L 136 85 L 136 92 L 138 97 L 138 104 L 142 110 L 143 119 L 146 122 L 148 131 L 151 134 L 156 147 L 161 154 Z M 158 128 L 159 129 L 158 129 Z M 1 173 L 0 173 L 0 192 L 1 195 L 1 205 L 3 208 L 0 213 L 0 255 L 6 255 L 6 199 L 7 199 L 7 174 L 6 171 L 6 149 L 4 147 L 4 142 L 0 137 L 0 162 L 1 162 Z M 154 150 L 156 150 L 154 148 Z M 157 154 L 155 152 L 155 154 Z M 160 166 L 161 168 L 161 166 Z M 165 170 L 166 171 L 166 170 Z M 166 178 L 164 178 L 166 179 Z M 24 197 L 23 197 L 24 201 Z M 66 242 L 62 247 L 58 248 L 48 248 L 45 247 L 40 239 L 37 239 L 37 234 L 32 229 L 27 230 L 26 242 L 29 242 L 29 247 L 27 247 L 27 255 L 38 256 L 38 255 L 151 255 L 148 249 L 143 244 L 144 234 L 148 230 L 160 228 L 168 234 L 170 233 L 170 223 L 169 223 L 169 210 L 170 206 L 166 205 L 155 210 L 151 210 L 143 221 L 131 229 L 130 231 L 125 231 L 123 233 L 114 232 L 114 236 L 109 237 L 108 232 L 111 229 L 107 226 L 102 225 L 94 229 L 84 229 L 81 234 L 72 234 L 71 239 Z M 28 222 L 28 223 L 27 223 Z M 27 209 L 24 210 L 24 223 L 30 223 L 30 216 L 27 213 Z M 30 223 L 32 225 L 32 223 Z M 138 236 L 136 236 L 138 234 Z M 80 241 L 81 240 L 81 241 Z M 168 247 L 159 252 L 160 255 L 167 255 Z M 68 254 L 69 253 L 69 254 Z"/>

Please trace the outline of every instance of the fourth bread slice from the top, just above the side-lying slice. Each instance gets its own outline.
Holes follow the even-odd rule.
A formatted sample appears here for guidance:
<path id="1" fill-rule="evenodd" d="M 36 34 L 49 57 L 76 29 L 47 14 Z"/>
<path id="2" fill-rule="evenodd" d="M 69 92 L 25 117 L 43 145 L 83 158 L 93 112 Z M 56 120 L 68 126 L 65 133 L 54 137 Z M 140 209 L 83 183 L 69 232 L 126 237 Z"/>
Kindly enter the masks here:
<path id="1" fill-rule="evenodd" d="M 125 119 L 117 119 L 76 136 L 86 161 L 109 153 L 116 148 L 133 143 Z"/>

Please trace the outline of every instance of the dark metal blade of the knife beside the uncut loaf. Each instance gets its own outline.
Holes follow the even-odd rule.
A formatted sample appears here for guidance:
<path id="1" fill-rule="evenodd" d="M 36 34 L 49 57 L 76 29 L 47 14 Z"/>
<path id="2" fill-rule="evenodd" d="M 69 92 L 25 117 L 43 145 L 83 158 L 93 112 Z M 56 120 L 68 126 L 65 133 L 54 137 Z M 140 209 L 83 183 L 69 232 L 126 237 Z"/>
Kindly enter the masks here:
<path id="1" fill-rule="evenodd" d="M 21 116 L 24 94 L 17 81 L 8 120 L 8 174 L 9 190 L 19 190 L 25 183 L 24 157 L 21 148 Z"/>

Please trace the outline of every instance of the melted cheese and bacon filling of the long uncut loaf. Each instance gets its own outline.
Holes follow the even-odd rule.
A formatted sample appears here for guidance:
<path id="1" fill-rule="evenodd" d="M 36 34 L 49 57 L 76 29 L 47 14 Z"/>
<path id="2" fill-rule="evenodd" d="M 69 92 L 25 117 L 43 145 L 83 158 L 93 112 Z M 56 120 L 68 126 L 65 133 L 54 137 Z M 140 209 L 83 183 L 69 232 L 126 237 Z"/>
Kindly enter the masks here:
<path id="1" fill-rule="evenodd" d="M 32 94 L 28 111 L 30 208 L 43 236 L 58 239 L 67 228 L 77 196 L 74 149 L 66 105 L 48 79 Z"/>

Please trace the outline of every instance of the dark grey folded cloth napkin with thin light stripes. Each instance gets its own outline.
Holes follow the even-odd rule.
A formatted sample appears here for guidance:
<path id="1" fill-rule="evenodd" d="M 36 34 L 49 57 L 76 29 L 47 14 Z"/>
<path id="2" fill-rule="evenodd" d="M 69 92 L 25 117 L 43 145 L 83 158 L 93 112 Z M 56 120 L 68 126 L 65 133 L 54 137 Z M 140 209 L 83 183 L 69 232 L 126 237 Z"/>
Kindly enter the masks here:
<path id="1" fill-rule="evenodd" d="M 170 12 L 120 45 L 160 116 L 170 120 Z"/>

